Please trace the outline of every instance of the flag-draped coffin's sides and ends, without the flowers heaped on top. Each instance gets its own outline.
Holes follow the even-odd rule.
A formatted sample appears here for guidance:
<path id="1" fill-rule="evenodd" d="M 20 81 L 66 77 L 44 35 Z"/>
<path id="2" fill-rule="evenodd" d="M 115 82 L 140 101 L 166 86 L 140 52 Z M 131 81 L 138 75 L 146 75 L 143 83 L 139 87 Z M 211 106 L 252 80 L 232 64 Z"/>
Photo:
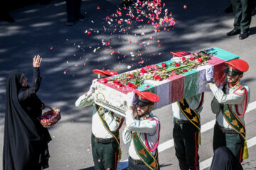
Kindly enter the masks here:
<path id="1" fill-rule="evenodd" d="M 215 79 L 215 84 L 220 86 L 225 82 L 225 74 L 223 74 L 225 62 L 238 59 L 238 55 L 234 55 L 218 47 L 213 47 L 205 51 L 215 52 L 213 56 L 210 57 L 210 60 L 208 60 L 208 64 L 213 65 L 213 78 Z M 172 61 L 168 60 L 159 64 L 153 64 L 150 67 L 154 68 L 156 65 L 161 67 L 162 63 L 169 65 Z M 138 70 L 139 69 L 129 71 L 129 73 L 137 72 Z M 159 96 L 159 102 L 154 104 L 154 109 L 161 108 L 176 101 L 180 101 L 183 98 L 201 94 L 203 91 L 206 91 L 207 82 L 205 73 L 206 69 L 203 66 L 198 66 L 184 74 L 171 74 L 170 77 L 161 81 L 144 80 L 144 84 L 137 89 L 133 89 L 130 86 L 120 87 L 113 81 L 110 81 L 110 79 L 116 79 L 122 76 L 122 74 L 108 77 L 107 82 L 104 79 L 99 79 L 96 82 L 95 103 L 125 117 L 125 111 L 127 110 L 125 97 L 127 93 L 132 91 L 149 91 Z M 127 74 L 127 72 L 123 74 Z"/>

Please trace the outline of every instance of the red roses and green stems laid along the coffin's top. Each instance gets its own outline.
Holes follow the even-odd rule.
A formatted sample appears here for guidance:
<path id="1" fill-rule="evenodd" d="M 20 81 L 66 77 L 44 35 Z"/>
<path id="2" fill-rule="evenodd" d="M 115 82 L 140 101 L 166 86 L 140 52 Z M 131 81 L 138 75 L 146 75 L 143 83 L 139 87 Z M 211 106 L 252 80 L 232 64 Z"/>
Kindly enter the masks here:
<path id="1" fill-rule="evenodd" d="M 174 57 L 171 59 L 170 64 L 162 62 L 161 66 L 158 64 L 149 65 L 133 72 L 118 75 L 112 79 L 104 79 L 103 82 L 112 81 L 117 88 L 129 86 L 132 89 L 137 89 L 144 84 L 145 80 L 163 81 L 171 77 L 171 75 L 184 74 L 192 69 L 196 69 L 198 66 L 205 65 L 213 54 L 214 52 L 208 54 L 202 51 L 195 55 Z"/>

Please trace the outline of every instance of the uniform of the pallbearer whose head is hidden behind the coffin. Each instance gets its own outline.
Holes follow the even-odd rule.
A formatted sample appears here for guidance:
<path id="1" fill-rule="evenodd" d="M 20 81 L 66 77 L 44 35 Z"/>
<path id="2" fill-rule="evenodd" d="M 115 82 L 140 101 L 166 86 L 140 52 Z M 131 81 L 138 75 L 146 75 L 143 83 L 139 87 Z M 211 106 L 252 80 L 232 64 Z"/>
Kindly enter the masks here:
<path id="1" fill-rule="evenodd" d="M 202 103 L 203 95 L 198 94 L 172 104 L 174 147 L 181 170 L 199 169 L 198 137 Z"/>

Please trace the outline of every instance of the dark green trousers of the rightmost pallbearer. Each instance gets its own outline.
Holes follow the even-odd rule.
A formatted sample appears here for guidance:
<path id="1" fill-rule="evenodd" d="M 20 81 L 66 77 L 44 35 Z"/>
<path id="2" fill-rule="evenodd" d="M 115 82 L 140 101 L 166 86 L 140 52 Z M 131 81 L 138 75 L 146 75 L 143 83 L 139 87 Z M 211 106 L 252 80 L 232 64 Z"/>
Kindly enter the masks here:
<path id="1" fill-rule="evenodd" d="M 213 133 L 213 151 L 218 147 L 228 147 L 238 159 L 238 162 L 241 163 L 244 142 L 245 140 L 238 133 L 223 132 L 218 128 L 218 125 L 215 124 Z"/>

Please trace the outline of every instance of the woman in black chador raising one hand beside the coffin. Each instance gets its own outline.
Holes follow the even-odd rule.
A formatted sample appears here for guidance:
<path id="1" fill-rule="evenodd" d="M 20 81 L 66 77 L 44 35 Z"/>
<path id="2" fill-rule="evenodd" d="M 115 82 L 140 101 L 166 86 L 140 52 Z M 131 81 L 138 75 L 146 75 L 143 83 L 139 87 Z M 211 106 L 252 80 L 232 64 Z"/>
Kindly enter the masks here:
<path id="1" fill-rule="evenodd" d="M 6 84 L 4 123 L 4 170 L 48 168 L 50 134 L 38 120 L 44 104 L 36 96 L 41 84 L 39 67 L 42 58 L 33 58 L 32 86 L 21 71 L 11 72 Z"/>

